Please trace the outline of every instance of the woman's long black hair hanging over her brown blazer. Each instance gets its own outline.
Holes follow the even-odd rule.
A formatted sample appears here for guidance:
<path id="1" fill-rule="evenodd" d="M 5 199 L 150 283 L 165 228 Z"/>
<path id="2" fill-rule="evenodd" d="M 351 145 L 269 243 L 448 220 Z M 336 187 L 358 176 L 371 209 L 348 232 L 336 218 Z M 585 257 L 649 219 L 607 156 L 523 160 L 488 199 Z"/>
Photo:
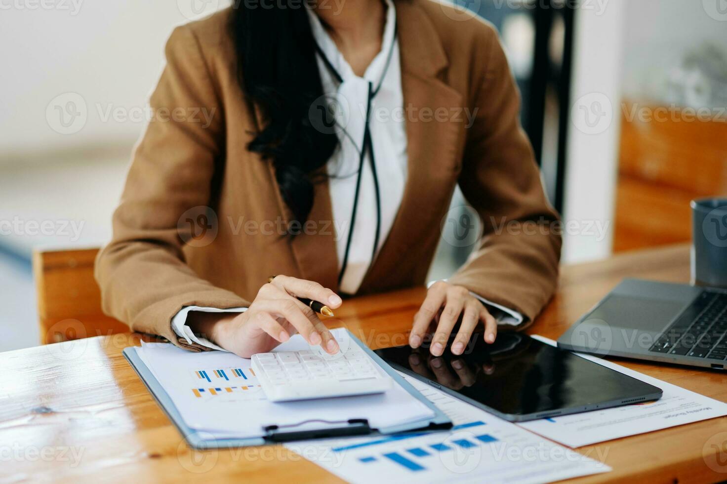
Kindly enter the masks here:
<path id="1" fill-rule="evenodd" d="M 310 113 L 319 112 L 311 105 L 324 92 L 303 2 L 262 3 L 236 2 L 229 25 L 238 80 L 265 120 L 248 149 L 273 164 L 282 198 L 302 223 L 319 181 L 313 173 L 332 156 L 338 139 L 311 124 Z"/>

